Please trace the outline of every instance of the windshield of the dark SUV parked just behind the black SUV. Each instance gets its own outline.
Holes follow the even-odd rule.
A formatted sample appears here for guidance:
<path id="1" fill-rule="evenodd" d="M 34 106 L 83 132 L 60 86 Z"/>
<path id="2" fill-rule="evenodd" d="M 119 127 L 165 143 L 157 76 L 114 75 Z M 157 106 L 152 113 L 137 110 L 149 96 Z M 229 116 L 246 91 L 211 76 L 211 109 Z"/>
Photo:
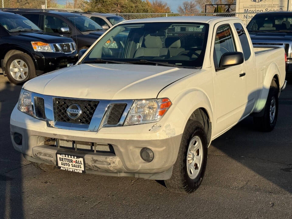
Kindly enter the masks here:
<path id="1" fill-rule="evenodd" d="M 75 19 L 74 19 L 75 18 Z M 67 18 L 81 32 L 103 30 L 101 26 L 95 23 L 92 19 L 85 16 L 75 16 Z"/>

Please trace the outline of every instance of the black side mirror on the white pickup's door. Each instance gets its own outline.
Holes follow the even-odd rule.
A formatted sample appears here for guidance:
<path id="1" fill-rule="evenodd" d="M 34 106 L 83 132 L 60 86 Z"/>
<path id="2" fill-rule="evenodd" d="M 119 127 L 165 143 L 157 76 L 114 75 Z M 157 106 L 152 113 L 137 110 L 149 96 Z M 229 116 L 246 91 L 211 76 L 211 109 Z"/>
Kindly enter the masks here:
<path id="1" fill-rule="evenodd" d="M 230 66 L 242 64 L 244 56 L 242 52 L 226 52 L 221 56 L 219 68 L 216 70 L 224 69 Z"/>

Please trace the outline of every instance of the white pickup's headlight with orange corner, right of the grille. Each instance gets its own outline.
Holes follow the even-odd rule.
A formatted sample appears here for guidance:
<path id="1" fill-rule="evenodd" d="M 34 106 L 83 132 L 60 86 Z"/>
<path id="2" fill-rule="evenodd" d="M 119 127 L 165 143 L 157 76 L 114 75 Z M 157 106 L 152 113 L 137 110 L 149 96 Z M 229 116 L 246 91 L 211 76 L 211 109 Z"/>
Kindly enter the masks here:
<path id="1" fill-rule="evenodd" d="M 156 122 L 171 106 L 168 98 L 135 100 L 124 125 L 135 125 Z"/>

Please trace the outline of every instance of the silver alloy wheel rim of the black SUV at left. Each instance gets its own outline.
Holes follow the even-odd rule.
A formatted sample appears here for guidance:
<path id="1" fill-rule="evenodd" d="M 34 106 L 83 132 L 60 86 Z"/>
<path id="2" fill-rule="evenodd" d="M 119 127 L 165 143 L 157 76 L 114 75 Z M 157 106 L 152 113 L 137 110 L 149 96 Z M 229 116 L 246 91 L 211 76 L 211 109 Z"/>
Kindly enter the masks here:
<path id="1" fill-rule="evenodd" d="M 21 59 L 15 59 L 10 64 L 10 75 L 17 81 L 23 81 L 28 76 L 27 64 Z"/>

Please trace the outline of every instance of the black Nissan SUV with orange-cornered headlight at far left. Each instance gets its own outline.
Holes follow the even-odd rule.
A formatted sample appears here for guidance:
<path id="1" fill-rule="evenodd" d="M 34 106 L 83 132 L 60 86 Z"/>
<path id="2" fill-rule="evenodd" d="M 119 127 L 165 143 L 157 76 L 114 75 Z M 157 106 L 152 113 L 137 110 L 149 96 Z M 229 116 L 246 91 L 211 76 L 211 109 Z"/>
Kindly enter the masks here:
<path id="1" fill-rule="evenodd" d="M 27 18 L 0 11 L 0 59 L 9 81 L 23 84 L 75 64 L 78 54 L 71 38 L 47 35 Z"/>

